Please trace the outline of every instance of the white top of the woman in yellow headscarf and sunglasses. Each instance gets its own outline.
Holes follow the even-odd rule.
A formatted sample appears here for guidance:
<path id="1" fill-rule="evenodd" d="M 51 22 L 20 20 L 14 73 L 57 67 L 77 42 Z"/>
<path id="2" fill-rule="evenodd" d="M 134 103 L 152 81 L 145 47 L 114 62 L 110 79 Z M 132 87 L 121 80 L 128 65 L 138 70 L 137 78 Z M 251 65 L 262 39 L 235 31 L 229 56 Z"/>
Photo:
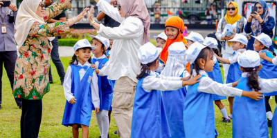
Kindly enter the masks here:
<path id="1" fill-rule="evenodd" d="M 242 18 L 244 18 L 244 17 L 242 17 Z M 222 40 L 222 32 L 223 32 L 223 30 L 222 30 L 222 19 L 220 19 L 220 22 L 218 22 L 217 31 L 215 32 L 215 36 L 217 37 L 217 39 L 219 41 L 225 41 L 225 40 Z M 238 26 L 237 24 L 238 24 L 238 21 L 232 24 L 232 27 L 233 27 L 233 29 L 235 29 L 235 32 L 237 31 L 237 26 Z M 247 25 L 247 19 L 244 18 L 244 26 L 246 26 L 246 25 Z M 243 32 L 241 34 L 243 34 L 245 37 L 248 36 L 248 34 L 244 31 L 244 28 L 243 28 Z M 233 52 L 234 51 L 233 51 L 232 46 L 229 47 L 228 43 L 226 41 L 225 49 L 222 46 L 222 55 L 224 53 L 233 54 Z"/>

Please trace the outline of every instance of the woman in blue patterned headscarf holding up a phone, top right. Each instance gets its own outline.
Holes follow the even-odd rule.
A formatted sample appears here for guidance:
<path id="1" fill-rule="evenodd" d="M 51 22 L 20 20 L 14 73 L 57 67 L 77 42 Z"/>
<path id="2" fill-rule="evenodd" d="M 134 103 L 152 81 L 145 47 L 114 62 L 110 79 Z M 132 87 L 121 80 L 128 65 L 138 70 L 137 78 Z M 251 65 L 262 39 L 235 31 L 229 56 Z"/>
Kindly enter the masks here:
<path id="1" fill-rule="evenodd" d="M 275 26 L 275 19 L 274 17 L 270 16 L 267 3 L 265 1 L 257 1 L 254 6 L 257 7 L 257 12 L 250 14 L 247 24 L 244 28 L 245 32 L 251 33 L 251 35 L 255 37 L 263 32 L 272 38 L 272 30 Z M 251 37 L 247 44 L 247 50 L 253 50 L 254 40 L 255 39 Z M 269 50 L 274 51 L 273 46 L 270 46 Z"/>

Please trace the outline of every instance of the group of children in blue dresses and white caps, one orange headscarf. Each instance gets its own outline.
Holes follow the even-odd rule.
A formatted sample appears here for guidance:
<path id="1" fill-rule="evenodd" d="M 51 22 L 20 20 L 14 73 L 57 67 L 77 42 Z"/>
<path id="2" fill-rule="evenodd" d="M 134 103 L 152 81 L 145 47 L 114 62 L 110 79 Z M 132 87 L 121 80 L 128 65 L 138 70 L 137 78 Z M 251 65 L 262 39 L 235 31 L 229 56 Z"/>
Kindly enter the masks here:
<path id="1" fill-rule="evenodd" d="M 148 42 L 139 48 L 141 73 L 137 75 L 131 137 L 217 137 L 213 101 L 223 122 L 233 119 L 233 137 L 268 137 L 271 122 L 272 137 L 277 137 L 277 113 L 272 115 L 268 103 L 270 96 L 277 95 L 277 58 L 268 50 L 271 38 L 263 33 L 255 37 L 252 51 L 246 50 L 247 37 L 235 34 L 229 40 L 233 57 L 223 59 L 216 39 L 204 39 L 197 32 L 182 36 L 184 21 L 178 18 L 170 17 L 165 32 L 154 36 L 156 46 Z M 88 137 L 91 110 L 95 110 L 103 138 L 109 137 L 114 86 L 103 68 L 112 41 L 100 35 L 91 38 L 91 44 L 82 39 L 74 46 L 64 80 L 62 124 L 73 127 L 73 137 L 78 136 L 78 128 Z M 226 84 L 219 61 L 231 64 Z M 221 102 L 226 97 L 230 115 Z"/>

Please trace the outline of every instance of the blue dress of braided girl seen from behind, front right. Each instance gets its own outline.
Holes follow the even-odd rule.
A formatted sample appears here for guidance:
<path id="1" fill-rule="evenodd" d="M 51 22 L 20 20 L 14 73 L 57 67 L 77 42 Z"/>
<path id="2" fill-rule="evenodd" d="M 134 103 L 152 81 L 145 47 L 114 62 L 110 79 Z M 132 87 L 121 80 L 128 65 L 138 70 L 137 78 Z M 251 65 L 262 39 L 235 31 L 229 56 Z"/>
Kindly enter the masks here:
<path id="1" fill-rule="evenodd" d="M 241 77 L 237 88 L 251 91 L 248 78 Z M 256 101 L 249 97 L 235 96 L 233 101 L 233 138 L 266 138 L 268 136 L 265 99 Z"/>

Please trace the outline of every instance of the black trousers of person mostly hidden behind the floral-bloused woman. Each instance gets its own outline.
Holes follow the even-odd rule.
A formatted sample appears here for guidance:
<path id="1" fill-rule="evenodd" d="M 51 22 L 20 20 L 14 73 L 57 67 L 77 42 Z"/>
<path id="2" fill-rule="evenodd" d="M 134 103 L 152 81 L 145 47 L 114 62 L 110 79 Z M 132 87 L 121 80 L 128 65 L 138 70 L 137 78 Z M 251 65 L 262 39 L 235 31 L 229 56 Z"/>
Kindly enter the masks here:
<path id="1" fill-rule="evenodd" d="M 55 37 L 55 39 L 53 39 L 53 41 L 51 42 L 53 46 L 51 50 L 51 59 L 57 68 L 57 74 L 59 74 L 60 76 L 60 81 L 63 83 L 65 72 L 64 72 L 64 66 L 62 65 L 62 61 L 60 61 L 60 56 L 59 56 L 59 41 L 57 41 L 57 37 Z M 53 81 L 51 68 L 49 70 L 49 80 Z"/>

